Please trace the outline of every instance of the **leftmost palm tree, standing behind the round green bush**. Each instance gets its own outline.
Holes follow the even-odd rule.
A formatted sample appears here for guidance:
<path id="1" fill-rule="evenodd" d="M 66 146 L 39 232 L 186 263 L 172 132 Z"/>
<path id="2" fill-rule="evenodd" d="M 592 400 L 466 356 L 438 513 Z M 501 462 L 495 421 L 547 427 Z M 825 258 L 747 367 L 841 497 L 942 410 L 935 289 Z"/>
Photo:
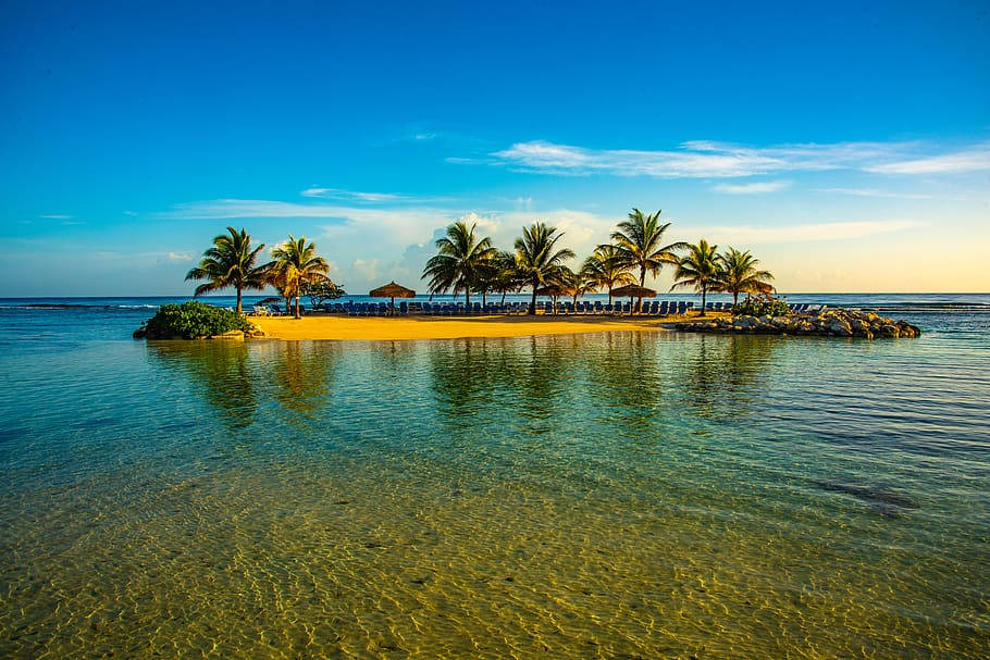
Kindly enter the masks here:
<path id="1" fill-rule="evenodd" d="M 268 284 L 271 262 L 256 265 L 258 252 L 264 244 L 251 248 L 251 237 L 242 227 L 240 232 L 227 227 L 227 234 L 213 238 L 213 247 L 202 253 L 199 265 L 186 273 L 186 281 L 207 279 L 196 287 L 194 296 L 219 291 L 227 287 L 237 289 L 237 313 L 240 313 L 240 297 L 244 289 L 261 290 Z"/>

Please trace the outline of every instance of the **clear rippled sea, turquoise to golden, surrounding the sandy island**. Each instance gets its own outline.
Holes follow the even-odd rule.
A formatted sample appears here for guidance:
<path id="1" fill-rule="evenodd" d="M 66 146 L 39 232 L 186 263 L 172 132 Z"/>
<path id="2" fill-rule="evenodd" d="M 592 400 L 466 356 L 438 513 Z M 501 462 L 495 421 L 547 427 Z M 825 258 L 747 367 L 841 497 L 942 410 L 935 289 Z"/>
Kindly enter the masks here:
<path id="1" fill-rule="evenodd" d="M 138 341 L 166 299 L 0 299 L 0 657 L 990 657 L 990 295 L 788 299 L 924 335 Z"/>

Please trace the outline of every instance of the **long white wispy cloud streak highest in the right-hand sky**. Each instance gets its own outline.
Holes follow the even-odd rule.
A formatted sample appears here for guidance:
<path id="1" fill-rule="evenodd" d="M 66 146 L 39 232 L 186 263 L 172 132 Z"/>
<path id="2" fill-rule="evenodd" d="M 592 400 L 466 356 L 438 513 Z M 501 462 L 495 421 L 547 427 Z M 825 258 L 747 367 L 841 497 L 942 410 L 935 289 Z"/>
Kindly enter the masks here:
<path id="1" fill-rule="evenodd" d="M 939 153 L 939 151 L 942 151 Z M 704 140 L 677 150 L 590 149 L 544 140 L 517 142 L 488 162 L 524 172 L 562 175 L 741 177 L 775 172 L 859 170 L 876 173 L 974 172 L 990 169 L 990 147 L 944 152 L 921 141 L 795 144 L 746 147 Z M 482 160 L 447 159 L 482 163 Z"/>

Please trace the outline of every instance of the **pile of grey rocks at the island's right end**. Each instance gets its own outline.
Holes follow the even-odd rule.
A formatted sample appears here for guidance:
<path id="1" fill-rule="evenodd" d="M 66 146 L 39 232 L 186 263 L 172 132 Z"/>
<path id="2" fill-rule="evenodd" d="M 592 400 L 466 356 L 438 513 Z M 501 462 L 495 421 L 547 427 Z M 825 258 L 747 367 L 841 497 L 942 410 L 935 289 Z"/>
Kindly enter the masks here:
<path id="1" fill-rule="evenodd" d="M 689 333 L 741 333 L 757 335 L 814 335 L 862 337 L 864 339 L 920 337 L 921 331 L 906 321 L 894 321 L 876 312 L 827 310 L 817 315 L 721 316 L 676 323 Z"/>

